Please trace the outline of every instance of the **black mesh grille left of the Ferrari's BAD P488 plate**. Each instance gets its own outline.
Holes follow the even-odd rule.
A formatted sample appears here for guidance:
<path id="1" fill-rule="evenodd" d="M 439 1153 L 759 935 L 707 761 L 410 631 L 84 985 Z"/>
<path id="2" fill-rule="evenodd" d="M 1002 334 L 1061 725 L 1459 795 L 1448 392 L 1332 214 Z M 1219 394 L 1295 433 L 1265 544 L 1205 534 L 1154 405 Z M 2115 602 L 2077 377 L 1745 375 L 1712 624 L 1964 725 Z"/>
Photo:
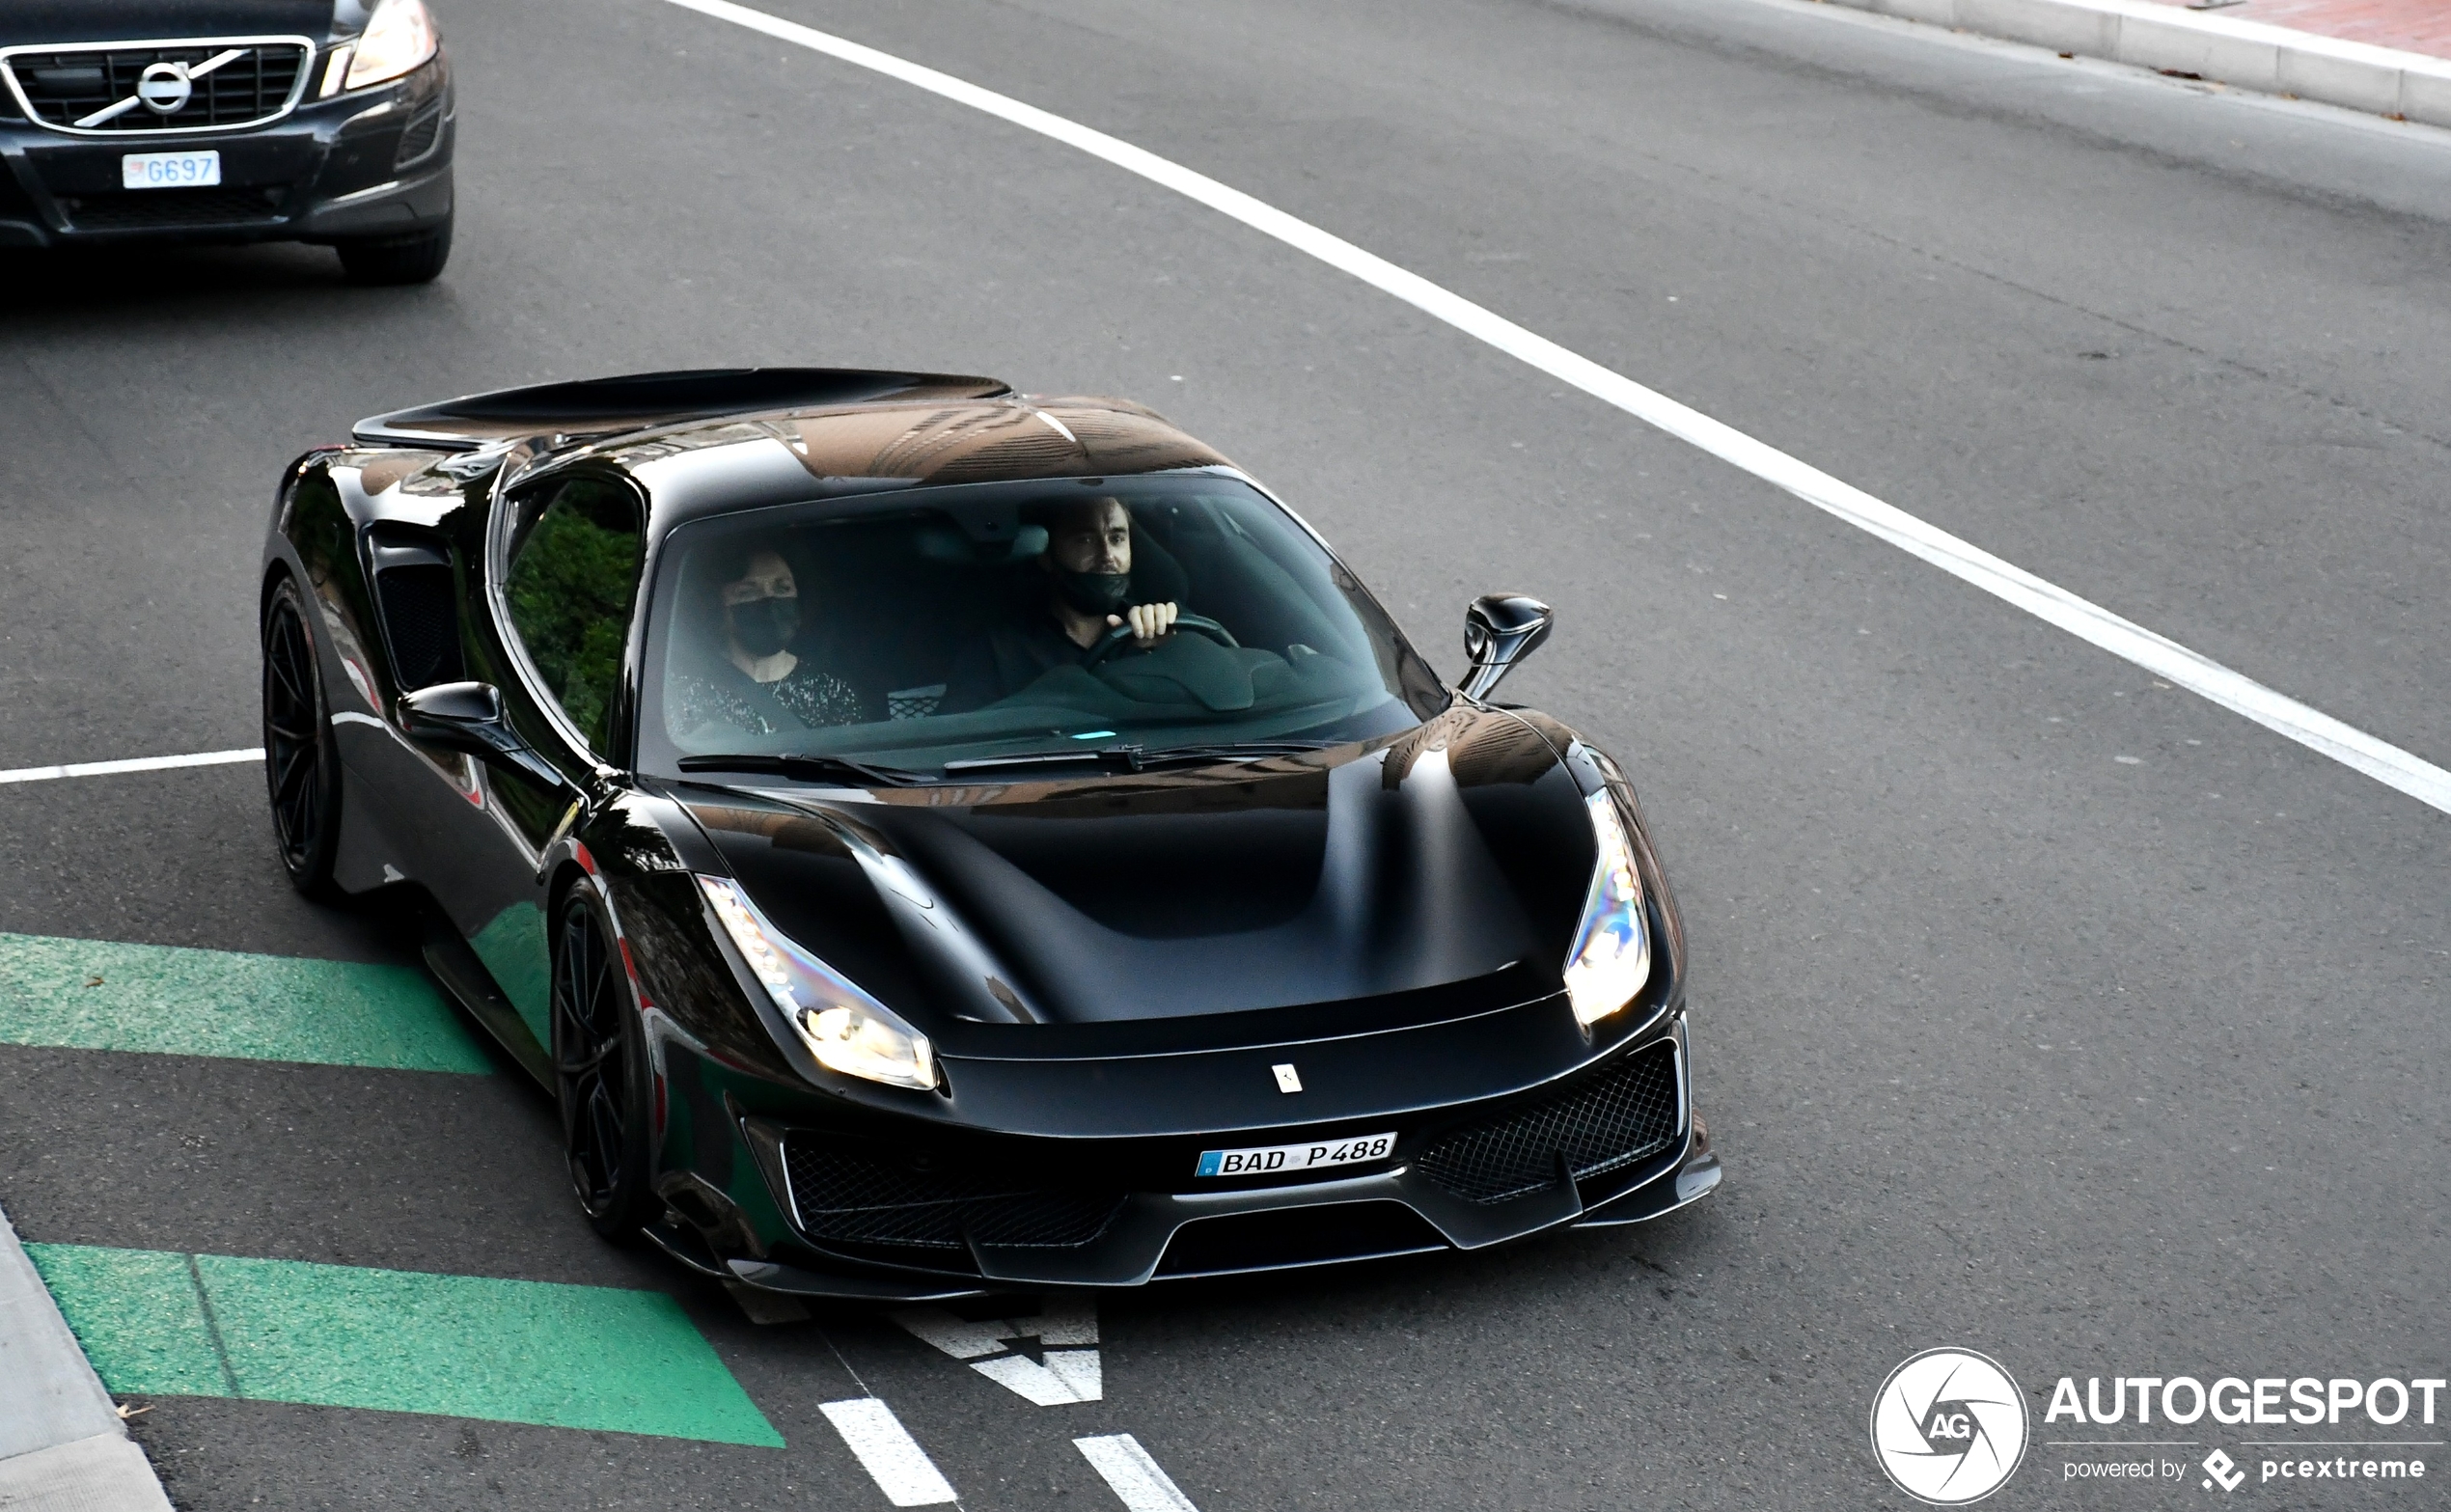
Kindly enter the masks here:
<path id="1" fill-rule="evenodd" d="M 1076 1250 L 1123 1211 L 1123 1193 L 1027 1191 L 995 1176 L 922 1171 L 887 1149 L 814 1132 L 787 1135 L 782 1159 L 799 1228 L 821 1242 Z"/>

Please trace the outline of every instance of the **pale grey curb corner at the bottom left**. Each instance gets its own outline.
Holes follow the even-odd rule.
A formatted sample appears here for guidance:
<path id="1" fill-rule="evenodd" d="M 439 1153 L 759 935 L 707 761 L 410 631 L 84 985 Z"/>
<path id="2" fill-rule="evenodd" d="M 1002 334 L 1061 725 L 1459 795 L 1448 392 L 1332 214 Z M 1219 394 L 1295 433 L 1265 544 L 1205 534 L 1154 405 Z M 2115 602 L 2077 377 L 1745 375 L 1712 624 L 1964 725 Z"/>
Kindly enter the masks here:
<path id="1" fill-rule="evenodd" d="M 0 1507 L 169 1512 L 145 1451 L 0 1213 Z"/>

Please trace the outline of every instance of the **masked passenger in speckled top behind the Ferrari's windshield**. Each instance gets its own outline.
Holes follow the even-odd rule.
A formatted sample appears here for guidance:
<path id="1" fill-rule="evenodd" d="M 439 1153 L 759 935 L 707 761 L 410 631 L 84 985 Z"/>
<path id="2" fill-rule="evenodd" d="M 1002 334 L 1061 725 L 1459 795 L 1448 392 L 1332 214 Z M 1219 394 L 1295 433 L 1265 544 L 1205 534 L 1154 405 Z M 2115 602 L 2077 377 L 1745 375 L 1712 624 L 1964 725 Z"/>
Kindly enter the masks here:
<path id="1" fill-rule="evenodd" d="M 848 681 L 794 649 L 806 618 L 782 551 L 767 542 L 718 549 L 711 578 L 716 603 L 701 625 L 721 613 L 723 654 L 699 654 L 674 676 L 667 716 L 674 730 L 735 725 L 782 735 L 875 718 Z"/>

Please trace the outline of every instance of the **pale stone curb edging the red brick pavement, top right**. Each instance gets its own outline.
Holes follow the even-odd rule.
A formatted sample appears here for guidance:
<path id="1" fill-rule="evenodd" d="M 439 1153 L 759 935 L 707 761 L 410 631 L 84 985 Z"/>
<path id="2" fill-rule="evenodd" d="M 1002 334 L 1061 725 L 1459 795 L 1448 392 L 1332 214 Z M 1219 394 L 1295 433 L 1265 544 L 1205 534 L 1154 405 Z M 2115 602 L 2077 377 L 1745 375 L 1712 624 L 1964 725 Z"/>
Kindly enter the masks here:
<path id="1" fill-rule="evenodd" d="M 2451 125 L 2451 59 L 2150 0 L 1831 0 L 2061 54 Z"/>

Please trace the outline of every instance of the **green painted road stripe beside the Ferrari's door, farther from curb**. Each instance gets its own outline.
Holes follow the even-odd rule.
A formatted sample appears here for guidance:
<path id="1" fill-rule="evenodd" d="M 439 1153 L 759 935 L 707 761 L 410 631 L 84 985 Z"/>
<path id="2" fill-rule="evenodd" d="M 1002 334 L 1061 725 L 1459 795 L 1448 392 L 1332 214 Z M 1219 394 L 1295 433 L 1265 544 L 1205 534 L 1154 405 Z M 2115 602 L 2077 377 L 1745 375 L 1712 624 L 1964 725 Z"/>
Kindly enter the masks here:
<path id="1" fill-rule="evenodd" d="M 0 934 L 0 1044 L 493 1071 L 414 966 Z"/>

